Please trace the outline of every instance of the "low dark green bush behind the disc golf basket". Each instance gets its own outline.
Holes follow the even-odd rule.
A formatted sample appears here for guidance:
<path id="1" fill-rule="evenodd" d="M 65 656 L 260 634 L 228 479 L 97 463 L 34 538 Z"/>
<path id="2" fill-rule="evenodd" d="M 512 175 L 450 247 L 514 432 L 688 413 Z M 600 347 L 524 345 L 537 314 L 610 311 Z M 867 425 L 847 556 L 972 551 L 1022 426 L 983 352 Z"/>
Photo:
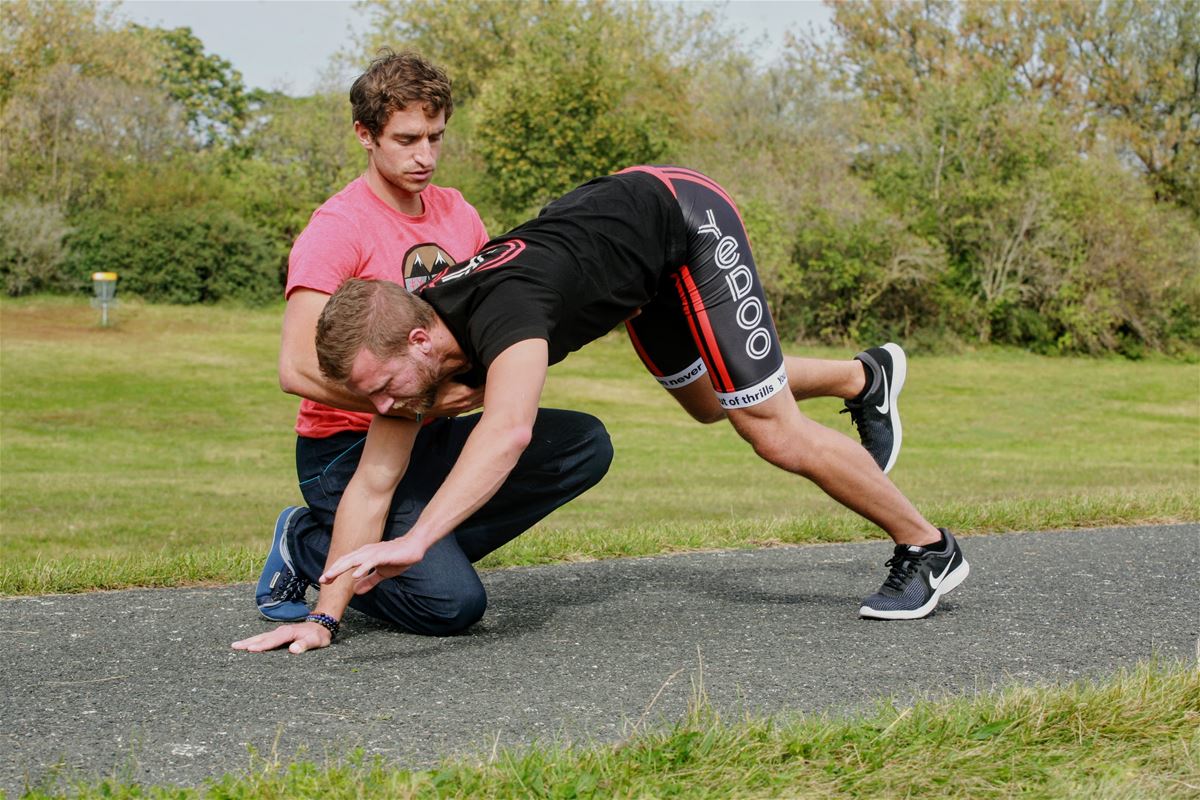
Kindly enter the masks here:
<path id="1" fill-rule="evenodd" d="M 116 272 L 122 291 L 146 300 L 263 303 L 280 295 L 270 234 L 217 205 L 85 213 L 70 242 L 72 277 Z"/>

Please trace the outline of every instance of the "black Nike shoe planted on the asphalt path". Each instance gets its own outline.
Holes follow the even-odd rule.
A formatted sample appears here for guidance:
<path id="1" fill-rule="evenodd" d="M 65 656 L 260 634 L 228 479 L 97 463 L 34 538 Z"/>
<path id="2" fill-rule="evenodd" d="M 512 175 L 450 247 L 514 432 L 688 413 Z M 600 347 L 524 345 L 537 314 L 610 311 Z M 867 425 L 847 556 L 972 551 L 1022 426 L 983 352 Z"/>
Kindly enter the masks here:
<path id="1" fill-rule="evenodd" d="M 954 589 L 971 572 L 958 541 L 944 528 L 946 542 L 938 549 L 896 545 L 888 559 L 888 579 L 863 601 L 859 616 L 871 619 L 920 619 L 932 613 L 937 600 Z"/>

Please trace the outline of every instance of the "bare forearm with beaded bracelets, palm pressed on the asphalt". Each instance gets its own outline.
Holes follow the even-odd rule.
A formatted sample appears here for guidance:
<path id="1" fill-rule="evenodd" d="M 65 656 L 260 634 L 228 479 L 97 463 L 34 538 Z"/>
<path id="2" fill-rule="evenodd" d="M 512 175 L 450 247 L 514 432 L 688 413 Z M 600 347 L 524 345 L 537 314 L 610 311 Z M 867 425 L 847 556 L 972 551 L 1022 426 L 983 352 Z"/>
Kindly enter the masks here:
<path id="1" fill-rule="evenodd" d="M 396 486 L 404 476 L 413 441 L 420 426 L 410 420 L 376 416 L 367 432 L 362 458 L 354 471 L 334 519 L 334 537 L 329 546 L 326 566 L 364 545 L 378 542 L 383 537 L 388 510 Z M 354 596 L 354 579 L 344 576 L 341 581 L 322 587 L 320 599 L 313 613 L 341 619 Z M 274 631 L 235 642 L 238 650 L 274 650 L 289 644 L 293 652 L 304 652 L 326 646 L 331 636 L 317 622 L 281 625 Z"/>

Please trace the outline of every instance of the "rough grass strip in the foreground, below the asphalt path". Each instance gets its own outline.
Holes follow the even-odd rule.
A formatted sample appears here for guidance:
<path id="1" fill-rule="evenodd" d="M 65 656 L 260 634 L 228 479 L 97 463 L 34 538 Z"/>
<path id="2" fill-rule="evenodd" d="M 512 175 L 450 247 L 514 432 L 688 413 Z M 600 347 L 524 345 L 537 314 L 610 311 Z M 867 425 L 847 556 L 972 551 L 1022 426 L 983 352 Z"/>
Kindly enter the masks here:
<path id="1" fill-rule="evenodd" d="M 53 778 L 52 778 L 53 780 Z M 1009 686 L 881 705 L 859 717 L 722 720 L 696 692 L 673 727 L 617 745 L 534 746 L 434 769 L 354 758 L 282 765 L 196 789 L 115 777 L 80 798 L 961 798 L 1200 796 L 1200 672 L 1147 663 L 1100 681 Z M 30 792 L 30 800 L 50 796 Z"/>

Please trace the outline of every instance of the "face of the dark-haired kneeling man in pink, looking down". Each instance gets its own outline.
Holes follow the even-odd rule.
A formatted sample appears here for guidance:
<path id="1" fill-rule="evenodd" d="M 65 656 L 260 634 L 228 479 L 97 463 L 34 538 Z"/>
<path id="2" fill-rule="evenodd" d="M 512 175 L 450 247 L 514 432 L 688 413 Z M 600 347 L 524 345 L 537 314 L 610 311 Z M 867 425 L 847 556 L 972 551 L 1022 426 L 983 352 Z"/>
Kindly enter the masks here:
<path id="1" fill-rule="evenodd" d="M 427 116 L 420 103 L 394 112 L 378 139 L 360 124 L 354 124 L 359 142 L 370 154 L 371 167 L 394 187 L 416 196 L 430 181 L 442 154 L 446 115 Z"/>

